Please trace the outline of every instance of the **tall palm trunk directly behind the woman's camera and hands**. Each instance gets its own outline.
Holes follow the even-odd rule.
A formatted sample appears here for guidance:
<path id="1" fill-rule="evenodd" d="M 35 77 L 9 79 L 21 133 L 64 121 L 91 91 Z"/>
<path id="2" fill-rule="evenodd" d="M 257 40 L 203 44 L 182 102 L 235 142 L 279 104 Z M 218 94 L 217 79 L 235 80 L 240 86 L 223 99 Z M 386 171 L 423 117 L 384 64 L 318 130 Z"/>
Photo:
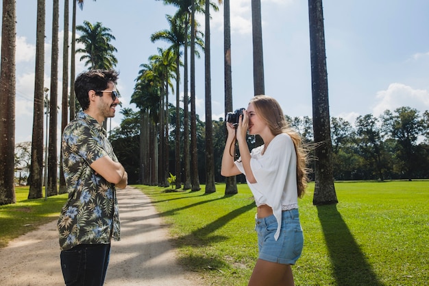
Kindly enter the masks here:
<path id="1" fill-rule="evenodd" d="M 232 111 L 231 14 L 230 0 L 223 0 L 223 69 L 225 74 L 225 116 Z M 226 126 L 223 127 L 226 138 Z M 225 195 L 238 193 L 236 176 L 226 178 Z"/>

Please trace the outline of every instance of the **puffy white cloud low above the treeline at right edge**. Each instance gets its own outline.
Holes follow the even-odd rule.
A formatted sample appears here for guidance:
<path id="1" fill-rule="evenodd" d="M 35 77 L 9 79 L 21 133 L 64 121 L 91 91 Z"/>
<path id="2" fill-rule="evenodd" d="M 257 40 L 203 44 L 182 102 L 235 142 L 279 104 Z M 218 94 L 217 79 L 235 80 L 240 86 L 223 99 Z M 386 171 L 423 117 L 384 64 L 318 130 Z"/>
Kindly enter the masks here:
<path id="1" fill-rule="evenodd" d="M 402 106 L 416 108 L 423 112 L 429 110 L 429 92 L 423 89 L 413 89 L 405 84 L 390 84 L 386 91 L 378 91 L 373 115 L 382 115 L 384 110 L 395 110 Z"/>

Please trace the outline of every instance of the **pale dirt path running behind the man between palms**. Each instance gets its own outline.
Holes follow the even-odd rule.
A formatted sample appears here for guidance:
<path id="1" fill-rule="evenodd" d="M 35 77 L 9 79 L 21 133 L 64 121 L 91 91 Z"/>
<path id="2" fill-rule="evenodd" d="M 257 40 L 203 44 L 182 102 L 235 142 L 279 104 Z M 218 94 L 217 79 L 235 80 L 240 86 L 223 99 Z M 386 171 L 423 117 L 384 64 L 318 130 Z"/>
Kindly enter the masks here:
<path id="1" fill-rule="evenodd" d="M 121 241 L 112 242 L 106 286 L 197 286 L 202 281 L 176 261 L 167 226 L 146 195 L 118 192 Z M 64 285 L 56 221 L 0 249 L 1 286 Z"/>

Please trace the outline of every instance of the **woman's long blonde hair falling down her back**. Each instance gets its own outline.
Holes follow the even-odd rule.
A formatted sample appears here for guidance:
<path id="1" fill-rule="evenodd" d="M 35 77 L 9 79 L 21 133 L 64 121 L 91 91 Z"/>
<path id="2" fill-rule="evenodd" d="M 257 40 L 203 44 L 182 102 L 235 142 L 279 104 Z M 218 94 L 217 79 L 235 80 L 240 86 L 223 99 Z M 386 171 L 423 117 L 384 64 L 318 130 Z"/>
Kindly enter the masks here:
<path id="1" fill-rule="evenodd" d="M 249 104 L 253 104 L 258 117 L 265 121 L 274 135 L 286 133 L 291 136 L 297 155 L 297 189 L 298 197 L 302 198 L 308 182 L 306 168 L 308 152 L 302 145 L 301 136 L 286 122 L 283 110 L 277 100 L 267 95 L 256 95 Z"/>

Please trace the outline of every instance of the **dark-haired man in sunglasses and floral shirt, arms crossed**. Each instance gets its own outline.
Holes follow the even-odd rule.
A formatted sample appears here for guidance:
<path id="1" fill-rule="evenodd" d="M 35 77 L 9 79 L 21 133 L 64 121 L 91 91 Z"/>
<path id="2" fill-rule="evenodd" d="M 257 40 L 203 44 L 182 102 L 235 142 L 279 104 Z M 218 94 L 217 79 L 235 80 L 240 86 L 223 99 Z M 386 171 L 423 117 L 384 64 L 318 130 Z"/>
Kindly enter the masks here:
<path id="1" fill-rule="evenodd" d="M 103 285 L 110 241 L 119 240 L 116 187 L 127 186 L 127 172 L 106 137 L 103 121 L 119 104 L 114 70 L 92 70 L 75 80 L 82 111 L 64 128 L 62 167 L 69 199 L 58 219 L 61 267 L 71 285 Z"/>

